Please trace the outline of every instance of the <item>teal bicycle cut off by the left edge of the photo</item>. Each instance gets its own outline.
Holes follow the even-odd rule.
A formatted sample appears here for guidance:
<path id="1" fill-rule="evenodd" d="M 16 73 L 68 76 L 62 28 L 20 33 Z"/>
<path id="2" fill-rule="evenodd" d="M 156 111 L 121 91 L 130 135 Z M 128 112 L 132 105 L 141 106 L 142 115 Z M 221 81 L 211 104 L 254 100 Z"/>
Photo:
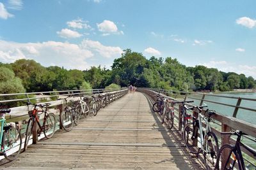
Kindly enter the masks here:
<path id="1" fill-rule="evenodd" d="M 20 134 L 20 129 L 14 122 L 6 123 L 4 118 L 7 113 L 10 113 L 10 109 L 0 109 L 0 155 L 9 160 L 15 160 L 21 150 L 22 139 Z"/>

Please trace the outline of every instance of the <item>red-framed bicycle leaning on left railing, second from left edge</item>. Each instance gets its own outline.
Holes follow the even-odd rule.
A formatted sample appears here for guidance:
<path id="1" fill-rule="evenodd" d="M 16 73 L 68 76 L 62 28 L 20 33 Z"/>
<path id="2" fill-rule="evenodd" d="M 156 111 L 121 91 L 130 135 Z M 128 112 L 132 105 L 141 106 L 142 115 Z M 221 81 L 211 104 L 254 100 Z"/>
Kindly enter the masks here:
<path id="1" fill-rule="evenodd" d="M 22 101 L 22 102 L 26 103 L 28 106 L 29 105 L 34 106 L 32 113 L 29 114 L 30 118 L 28 120 L 28 125 L 27 125 L 27 129 L 26 129 L 25 143 L 24 143 L 24 151 L 26 151 L 26 149 L 28 148 L 28 143 L 29 143 L 32 131 L 33 131 L 34 124 L 38 125 L 38 129 L 37 129 L 38 136 L 40 136 L 40 134 L 42 132 L 44 132 L 45 138 L 49 139 L 49 138 L 52 138 L 52 136 L 55 132 L 56 118 L 55 118 L 54 113 L 47 112 L 47 109 L 50 106 L 49 103 L 32 104 L 30 102 L 25 102 L 25 101 Z M 39 120 L 38 113 L 39 113 L 39 115 L 44 114 L 44 120 L 42 123 Z"/>

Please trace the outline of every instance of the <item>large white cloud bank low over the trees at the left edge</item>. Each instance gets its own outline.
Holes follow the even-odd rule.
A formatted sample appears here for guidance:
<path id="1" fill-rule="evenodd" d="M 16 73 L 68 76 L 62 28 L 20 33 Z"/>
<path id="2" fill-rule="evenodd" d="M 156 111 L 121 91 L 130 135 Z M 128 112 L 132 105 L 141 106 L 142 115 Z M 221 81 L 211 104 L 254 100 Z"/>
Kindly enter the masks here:
<path id="1" fill-rule="evenodd" d="M 17 59 L 33 59 L 43 66 L 49 64 L 67 69 L 89 68 L 86 60 L 93 57 L 90 50 L 71 43 L 47 41 L 43 43 L 15 43 L 0 40 L 0 60 L 14 62 Z"/>

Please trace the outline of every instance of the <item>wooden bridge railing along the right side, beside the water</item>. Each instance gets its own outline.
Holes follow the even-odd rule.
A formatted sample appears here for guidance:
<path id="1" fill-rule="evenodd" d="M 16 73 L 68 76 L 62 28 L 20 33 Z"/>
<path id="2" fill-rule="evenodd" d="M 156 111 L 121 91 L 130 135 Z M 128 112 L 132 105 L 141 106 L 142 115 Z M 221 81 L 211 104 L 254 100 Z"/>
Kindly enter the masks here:
<path id="1" fill-rule="evenodd" d="M 242 100 L 255 102 L 256 99 L 249 99 L 249 98 L 243 98 L 243 97 L 216 96 L 214 94 L 204 94 L 204 93 L 177 92 L 177 91 L 163 90 L 163 89 L 138 89 L 138 91 L 144 92 L 145 94 L 150 96 L 150 98 L 153 101 L 156 101 L 156 97 L 155 97 L 156 94 L 161 94 L 162 96 L 164 96 L 168 99 L 172 99 L 173 101 L 188 101 L 190 99 L 193 99 L 193 100 L 198 101 L 197 102 L 198 105 L 202 105 L 204 102 L 207 102 L 207 104 L 214 103 L 214 104 L 220 104 L 221 106 L 232 107 L 232 108 L 234 108 L 234 114 L 232 115 L 232 117 L 229 117 L 229 116 L 225 115 L 225 113 L 220 113 L 218 111 L 216 112 L 216 115 L 211 117 L 214 119 L 214 122 L 215 122 L 215 124 L 212 125 L 212 127 L 213 127 L 212 131 L 214 131 L 214 133 L 218 137 L 218 139 L 219 139 L 218 141 L 221 143 L 221 145 L 223 145 L 225 143 L 234 144 L 236 142 L 235 139 L 231 138 L 230 136 L 227 136 L 227 135 L 221 136 L 221 132 L 230 132 L 230 131 L 236 131 L 236 130 L 243 131 L 246 134 L 248 134 L 248 136 L 244 136 L 245 139 L 243 140 L 243 142 L 246 145 L 249 145 L 254 150 L 256 150 L 256 143 L 255 143 L 256 142 L 256 125 L 252 124 L 250 122 L 241 120 L 239 118 L 236 118 L 238 109 L 250 110 L 250 111 L 252 111 L 252 114 L 253 113 L 256 114 L 255 108 L 246 108 L 246 107 L 240 106 Z M 193 95 L 189 96 L 189 94 L 193 94 Z M 170 96 L 172 96 L 172 97 L 170 97 Z M 195 96 L 202 96 L 202 97 L 198 98 Z M 235 100 L 237 100 L 237 104 L 232 105 L 232 104 L 216 102 L 216 100 L 213 101 L 213 100 L 205 99 L 206 96 L 219 97 L 219 98 L 225 97 L 227 99 L 235 99 Z M 187 105 L 193 106 L 193 104 L 191 104 L 191 103 L 188 103 Z M 214 105 L 214 106 L 216 106 L 216 105 Z M 256 106 L 256 102 L 255 102 L 254 106 Z M 175 115 L 175 118 L 177 120 L 176 122 L 178 124 L 179 131 L 181 131 L 182 104 L 177 104 L 177 106 L 173 106 L 173 107 L 175 108 L 175 110 L 177 112 L 177 114 Z M 210 107 L 209 110 L 215 110 L 215 108 Z M 198 113 L 196 113 L 196 110 L 194 111 L 194 113 L 198 114 Z M 202 111 L 202 114 L 205 115 L 205 110 Z M 246 162 L 248 162 L 248 164 L 253 166 L 253 168 L 255 169 L 255 167 L 256 167 L 255 157 L 253 157 L 253 155 L 250 152 L 248 152 L 247 150 L 245 150 L 244 148 L 241 148 L 241 149 L 243 150 L 243 154 L 245 154 L 244 160 L 246 160 Z"/>

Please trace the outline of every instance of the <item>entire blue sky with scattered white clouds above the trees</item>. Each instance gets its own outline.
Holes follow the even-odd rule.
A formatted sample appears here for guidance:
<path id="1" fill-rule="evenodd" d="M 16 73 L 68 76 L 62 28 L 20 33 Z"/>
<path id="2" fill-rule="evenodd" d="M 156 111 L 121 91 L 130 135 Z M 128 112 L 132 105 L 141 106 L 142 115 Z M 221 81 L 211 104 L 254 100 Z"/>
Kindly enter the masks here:
<path id="1" fill-rule="evenodd" d="M 256 79 L 255 0 L 0 0 L 0 62 L 111 68 L 130 48 Z"/>

